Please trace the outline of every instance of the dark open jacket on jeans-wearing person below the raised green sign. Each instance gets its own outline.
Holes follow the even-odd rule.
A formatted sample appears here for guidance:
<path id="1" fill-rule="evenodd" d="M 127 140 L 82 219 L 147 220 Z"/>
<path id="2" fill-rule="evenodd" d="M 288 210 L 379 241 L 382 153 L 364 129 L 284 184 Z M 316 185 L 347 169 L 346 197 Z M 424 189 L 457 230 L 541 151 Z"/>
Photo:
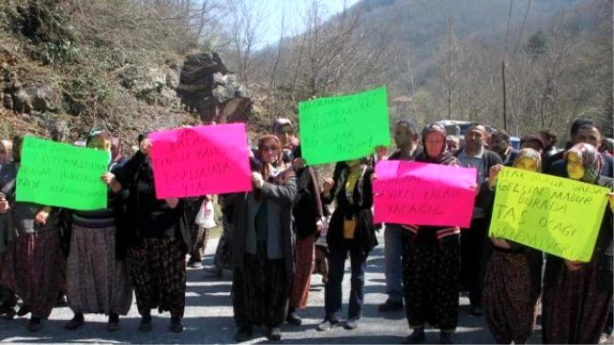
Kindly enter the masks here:
<path id="1" fill-rule="evenodd" d="M 352 247 L 358 250 L 363 257 L 367 257 L 371 249 L 378 245 L 375 236 L 375 225 L 373 225 L 373 188 L 371 186 L 371 176 L 373 168 L 362 166 L 360 179 L 354 186 L 352 192 L 352 204 L 346 198 L 346 182 L 349 176 L 349 168 L 344 163 L 338 163 L 338 168 L 333 176 L 335 184 L 331 192 L 324 196 L 324 203 L 336 202 L 335 211 L 328 224 L 326 236 L 329 249 L 340 249 L 343 238 L 343 225 L 345 219 L 356 219 L 356 231 L 352 239 Z"/>

